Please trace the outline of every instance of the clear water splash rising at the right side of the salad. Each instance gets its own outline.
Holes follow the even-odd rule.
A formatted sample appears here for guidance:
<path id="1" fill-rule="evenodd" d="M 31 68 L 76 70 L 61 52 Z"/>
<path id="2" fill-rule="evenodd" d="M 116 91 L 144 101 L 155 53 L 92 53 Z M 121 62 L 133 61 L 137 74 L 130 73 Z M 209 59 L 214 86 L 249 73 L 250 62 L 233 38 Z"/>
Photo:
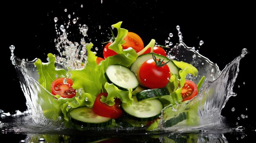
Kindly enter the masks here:
<path id="1" fill-rule="evenodd" d="M 207 80 L 204 82 L 204 86 L 199 94 L 192 100 L 178 106 L 176 112 L 169 114 L 172 106 L 164 108 L 164 110 L 162 110 L 159 128 L 161 130 L 182 131 L 188 128 L 195 130 L 205 127 L 217 129 L 216 125 L 222 125 L 222 121 L 225 118 L 220 115 L 221 110 L 225 107 L 229 97 L 236 95 L 232 88 L 234 87 L 239 72 L 240 59 L 242 59 L 246 53 L 247 50 L 243 49 L 240 56 L 236 57 L 234 61 L 220 71 L 216 64 L 213 64 L 209 59 L 200 55 L 193 48 L 187 47 L 184 43 L 177 44 L 172 48 L 169 54 L 175 57 L 176 60 L 186 60 L 186 62 L 191 63 L 200 71 L 198 76 L 193 77 L 195 83 L 198 83 L 203 75 Z M 180 122 L 171 127 L 166 124 L 172 117 L 178 117 L 179 114 L 184 111 L 189 112 L 189 114 L 198 115 L 195 116 L 198 117 L 198 119 L 192 119 L 195 121 L 194 123 L 198 122 L 198 124 L 190 125 L 189 121 Z M 184 128 L 185 126 L 186 128 Z"/>

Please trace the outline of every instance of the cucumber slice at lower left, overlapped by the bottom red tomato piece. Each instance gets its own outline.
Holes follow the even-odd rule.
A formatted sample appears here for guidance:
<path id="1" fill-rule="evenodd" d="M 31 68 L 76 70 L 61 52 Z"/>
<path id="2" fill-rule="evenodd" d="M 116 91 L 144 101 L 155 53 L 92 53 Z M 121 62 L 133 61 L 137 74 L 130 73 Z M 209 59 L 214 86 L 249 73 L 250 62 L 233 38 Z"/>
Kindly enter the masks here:
<path id="1" fill-rule="evenodd" d="M 69 115 L 72 122 L 84 127 L 105 127 L 112 122 L 111 118 L 99 116 L 88 107 L 75 108 Z"/>

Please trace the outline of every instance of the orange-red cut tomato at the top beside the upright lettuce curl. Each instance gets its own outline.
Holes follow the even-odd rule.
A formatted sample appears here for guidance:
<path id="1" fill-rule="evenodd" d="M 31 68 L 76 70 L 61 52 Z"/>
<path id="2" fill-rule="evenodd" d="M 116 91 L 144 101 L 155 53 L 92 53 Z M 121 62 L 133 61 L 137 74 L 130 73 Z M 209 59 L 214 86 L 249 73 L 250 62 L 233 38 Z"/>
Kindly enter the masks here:
<path id="1" fill-rule="evenodd" d="M 124 40 L 125 43 L 122 44 L 123 49 L 132 47 L 138 53 L 144 48 L 144 43 L 141 37 L 139 37 L 139 35 L 137 35 L 136 33 L 128 32 L 126 37 L 124 37 Z"/>

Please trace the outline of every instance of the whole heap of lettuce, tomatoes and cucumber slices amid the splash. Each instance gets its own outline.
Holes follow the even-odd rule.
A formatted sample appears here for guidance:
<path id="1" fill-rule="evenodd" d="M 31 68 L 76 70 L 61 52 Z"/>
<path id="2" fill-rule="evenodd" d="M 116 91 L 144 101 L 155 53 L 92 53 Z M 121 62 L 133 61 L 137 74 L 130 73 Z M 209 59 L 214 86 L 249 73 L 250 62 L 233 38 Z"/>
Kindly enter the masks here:
<path id="1" fill-rule="evenodd" d="M 155 40 L 144 47 L 136 33 L 117 29 L 103 49 L 103 58 L 86 43 L 87 62 L 83 68 L 56 68 L 56 57 L 49 53 L 48 63 L 35 62 L 39 84 L 54 95 L 54 112 L 45 117 L 83 127 L 109 127 L 119 122 L 144 125 L 147 130 L 158 126 L 161 111 L 170 105 L 186 102 L 198 94 L 198 84 L 186 79 L 198 70 L 186 62 L 168 59 L 166 51 L 155 46 Z M 49 105 L 52 106 L 52 105 Z M 180 116 L 180 115 L 179 115 Z M 174 117 L 172 125 L 189 117 Z"/>

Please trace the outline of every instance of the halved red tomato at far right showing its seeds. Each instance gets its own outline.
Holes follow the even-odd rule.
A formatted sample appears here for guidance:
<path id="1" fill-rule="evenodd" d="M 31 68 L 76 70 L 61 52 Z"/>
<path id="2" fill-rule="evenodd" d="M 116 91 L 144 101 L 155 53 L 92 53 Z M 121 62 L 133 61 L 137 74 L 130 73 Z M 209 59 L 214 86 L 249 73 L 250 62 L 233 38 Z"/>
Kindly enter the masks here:
<path id="1" fill-rule="evenodd" d="M 198 95 L 198 87 L 193 81 L 186 79 L 181 91 L 182 101 L 190 100 L 196 95 Z"/>

